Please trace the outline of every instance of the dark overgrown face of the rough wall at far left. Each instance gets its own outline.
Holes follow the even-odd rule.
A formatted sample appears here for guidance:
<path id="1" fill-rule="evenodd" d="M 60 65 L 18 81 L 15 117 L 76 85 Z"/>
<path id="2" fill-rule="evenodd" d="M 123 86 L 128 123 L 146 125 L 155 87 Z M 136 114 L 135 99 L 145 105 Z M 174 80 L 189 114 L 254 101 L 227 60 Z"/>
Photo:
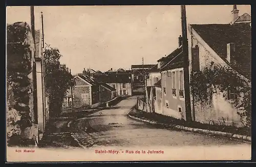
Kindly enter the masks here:
<path id="1" fill-rule="evenodd" d="M 26 26 L 13 24 L 7 27 L 7 123 L 13 127 L 8 131 L 9 137 L 20 129 L 32 126 L 29 107 L 32 90 L 28 77 L 32 71 L 32 54 L 30 45 L 24 44 L 27 35 Z M 20 116 L 18 120 L 12 119 L 13 110 Z"/>

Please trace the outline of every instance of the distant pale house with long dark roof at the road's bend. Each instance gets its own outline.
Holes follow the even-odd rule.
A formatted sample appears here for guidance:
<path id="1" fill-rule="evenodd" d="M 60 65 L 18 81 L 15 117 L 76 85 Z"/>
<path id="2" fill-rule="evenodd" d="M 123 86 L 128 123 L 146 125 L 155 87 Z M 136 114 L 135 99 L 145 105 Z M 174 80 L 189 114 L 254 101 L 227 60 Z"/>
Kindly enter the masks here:
<path id="1" fill-rule="evenodd" d="M 132 81 L 130 73 L 117 74 L 116 72 L 98 75 L 95 79 L 100 83 L 108 84 L 116 90 L 118 97 L 132 95 Z"/>

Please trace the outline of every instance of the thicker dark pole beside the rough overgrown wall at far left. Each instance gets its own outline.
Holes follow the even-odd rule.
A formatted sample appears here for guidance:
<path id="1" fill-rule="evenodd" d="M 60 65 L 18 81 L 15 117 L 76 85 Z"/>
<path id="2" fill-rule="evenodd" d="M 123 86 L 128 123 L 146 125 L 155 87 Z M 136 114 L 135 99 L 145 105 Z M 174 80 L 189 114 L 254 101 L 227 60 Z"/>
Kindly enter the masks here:
<path id="1" fill-rule="evenodd" d="M 31 33 L 33 36 L 34 40 L 34 46 L 35 46 L 35 15 L 34 15 L 34 6 L 30 6 L 30 21 L 31 21 Z M 34 57 L 35 57 L 35 50 L 34 50 Z M 36 84 L 36 63 L 35 61 L 33 62 L 33 70 L 32 70 L 32 75 L 33 75 L 33 110 L 37 118 L 37 84 Z M 36 120 L 36 124 L 38 123 L 38 120 Z"/>

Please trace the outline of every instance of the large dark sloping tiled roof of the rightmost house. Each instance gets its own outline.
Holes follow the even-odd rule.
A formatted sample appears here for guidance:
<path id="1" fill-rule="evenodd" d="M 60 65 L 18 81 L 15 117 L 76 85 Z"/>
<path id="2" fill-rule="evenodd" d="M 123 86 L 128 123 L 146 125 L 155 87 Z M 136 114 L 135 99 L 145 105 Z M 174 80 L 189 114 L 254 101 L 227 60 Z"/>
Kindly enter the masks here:
<path id="1" fill-rule="evenodd" d="M 234 70 L 251 79 L 251 27 L 249 23 L 191 24 L 202 39 Z M 227 44 L 234 43 L 236 64 L 226 60 Z"/>

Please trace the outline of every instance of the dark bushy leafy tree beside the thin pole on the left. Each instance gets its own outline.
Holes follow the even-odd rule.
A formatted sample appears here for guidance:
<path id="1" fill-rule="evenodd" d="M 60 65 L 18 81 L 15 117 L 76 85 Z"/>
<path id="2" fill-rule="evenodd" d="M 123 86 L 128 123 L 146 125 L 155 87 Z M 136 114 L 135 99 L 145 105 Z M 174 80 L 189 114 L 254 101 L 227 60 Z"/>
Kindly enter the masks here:
<path id="1" fill-rule="evenodd" d="M 75 85 L 72 75 L 60 66 L 62 55 L 57 48 L 47 46 L 44 51 L 46 93 L 49 94 L 50 117 L 61 113 L 67 90 Z"/>

